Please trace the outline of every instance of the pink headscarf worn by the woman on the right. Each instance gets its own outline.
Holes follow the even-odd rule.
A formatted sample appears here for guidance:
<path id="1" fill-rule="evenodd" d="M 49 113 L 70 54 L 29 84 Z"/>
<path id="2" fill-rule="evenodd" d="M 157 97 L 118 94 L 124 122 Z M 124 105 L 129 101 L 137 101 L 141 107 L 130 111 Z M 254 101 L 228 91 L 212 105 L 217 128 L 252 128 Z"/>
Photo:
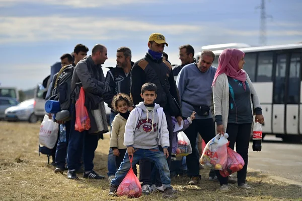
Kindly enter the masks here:
<path id="1" fill-rule="evenodd" d="M 217 77 L 225 73 L 226 76 L 239 80 L 243 83 L 244 90 L 246 89 L 245 81 L 247 80 L 246 73 L 239 69 L 238 63 L 245 53 L 239 49 L 224 49 L 218 58 L 218 67 L 214 76 L 212 86 L 214 86 Z"/>

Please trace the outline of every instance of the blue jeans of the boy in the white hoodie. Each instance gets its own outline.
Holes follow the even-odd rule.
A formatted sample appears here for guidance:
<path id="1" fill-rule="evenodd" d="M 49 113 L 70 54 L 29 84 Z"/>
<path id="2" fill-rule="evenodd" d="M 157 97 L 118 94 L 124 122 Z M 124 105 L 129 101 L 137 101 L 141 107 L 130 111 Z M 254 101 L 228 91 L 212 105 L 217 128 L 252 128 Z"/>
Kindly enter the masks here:
<path id="1" fill-rule="evenodd" d="M 140 159 L 151 159 L 154 160 L 155 165 L 157 166 L 161 180 L 163 183 L 164 189 L 171 186 L 170 179 L 170 170 L 168 166 L 167 159 L 163 152 L 159 150 L 159 148 L 155 149 L 137 149 L 134 148 L 135 153 L 133 155 L 132 167 L 140 160 Z M 128 157 L 128 153 L 125 154 L 124 160 L 121 163 L 121 166 L 115 173 L 115 178 L 111 181 L 111 185 L 119 185 L 122 180 L 125 178 L 126 174 L 130 169 L 130 160 Z"/>

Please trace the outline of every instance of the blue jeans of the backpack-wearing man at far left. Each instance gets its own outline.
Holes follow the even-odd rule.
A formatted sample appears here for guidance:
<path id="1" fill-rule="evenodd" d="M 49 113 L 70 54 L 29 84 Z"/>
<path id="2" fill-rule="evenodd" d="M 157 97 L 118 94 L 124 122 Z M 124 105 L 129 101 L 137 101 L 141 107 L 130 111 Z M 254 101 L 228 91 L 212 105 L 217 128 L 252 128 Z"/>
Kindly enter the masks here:
<path id="1" fill-rule="evenodd" d="M 55 152 L 55 165 L 57 168 L 60 168 L 62 170 L 65 169 L 69 132 L 70 132 L 70 121 L 65 122 L 65 126 L 66 126 L 66 142 L 61 142 L 59 137 L 56 152 Z M 60 130 L 59 130 L 59 135 L 60 135 Z"/>

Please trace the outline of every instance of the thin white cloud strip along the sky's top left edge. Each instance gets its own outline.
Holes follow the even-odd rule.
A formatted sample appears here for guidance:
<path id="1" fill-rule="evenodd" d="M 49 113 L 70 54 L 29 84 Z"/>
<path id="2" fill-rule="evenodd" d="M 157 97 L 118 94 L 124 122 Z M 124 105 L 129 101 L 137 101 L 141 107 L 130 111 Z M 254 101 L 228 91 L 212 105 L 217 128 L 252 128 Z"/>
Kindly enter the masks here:
<path id="1" fill-rule="evenodd" d="M 122 6 L 127 4 L 160 3 L 158 0 L 0 0 L 0 7 L 15 6 L 20 3 L 59 5 L 74 8 L 97 8 L 106 6 Z"/>

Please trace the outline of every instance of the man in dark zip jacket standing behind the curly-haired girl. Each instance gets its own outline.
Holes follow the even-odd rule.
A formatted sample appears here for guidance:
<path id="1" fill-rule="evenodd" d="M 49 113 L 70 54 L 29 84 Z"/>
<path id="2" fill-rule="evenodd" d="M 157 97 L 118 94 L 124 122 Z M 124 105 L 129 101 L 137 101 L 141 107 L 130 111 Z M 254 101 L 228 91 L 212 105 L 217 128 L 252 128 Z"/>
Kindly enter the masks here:
<path id="1" fill-rule="evenodd" d="M 134 62 L 131 61 L 131 50 L 128 47 L 120 47 L 116 50 L 116 68 L 109 67 L 105 79 L 105 94 L 104 100 L 111 108 L 109 124 L 111 123 L 116 115 L 116 112 L 112 110 L 111 102 L 113 97 L 118 93 L 130 94 L 130 71 Z M 129 108 L 130 110 L 133 108 Z M 108 179 L 114 179 L 116 169 L 115 156 L 113 150 L 109 149 L 108 154 Z"/>

